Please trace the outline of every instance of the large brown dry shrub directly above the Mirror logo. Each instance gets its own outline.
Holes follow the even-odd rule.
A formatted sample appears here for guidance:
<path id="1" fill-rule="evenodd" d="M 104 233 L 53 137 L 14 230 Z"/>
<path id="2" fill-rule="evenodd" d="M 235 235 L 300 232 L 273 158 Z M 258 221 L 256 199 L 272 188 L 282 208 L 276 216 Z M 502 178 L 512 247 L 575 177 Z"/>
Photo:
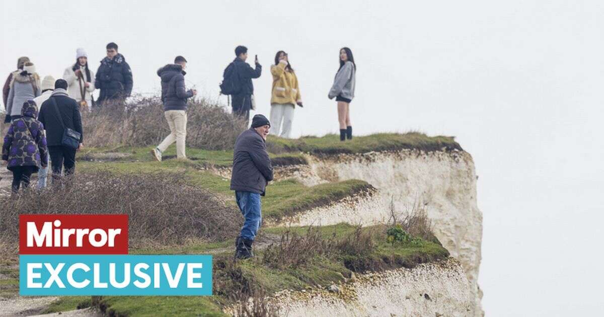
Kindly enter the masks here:
<path id="1" fill-rule="evenodd" d="M 131 248 L 228 239 L 242 225 L 239 211 L 209 191 L 185 184 L 182 174 L 97 171 L 79 173 L 68 182 L 0 200 L 1 252 L 18 247 L 19 214 L 127 214 Z"/>

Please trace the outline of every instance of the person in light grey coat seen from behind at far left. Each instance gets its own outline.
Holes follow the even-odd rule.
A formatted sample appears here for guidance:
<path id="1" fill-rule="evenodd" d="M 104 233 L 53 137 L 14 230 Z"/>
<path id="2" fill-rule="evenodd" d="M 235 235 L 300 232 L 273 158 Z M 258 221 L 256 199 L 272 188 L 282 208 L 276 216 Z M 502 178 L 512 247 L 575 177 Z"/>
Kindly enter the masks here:
<path id="1" fill-rule="evenodd" d="M 6 113 L 10 115 L 10 120 L 21 118 L 21 107 L 25 101 L 32 100 L 40 94 L 40 76 L 36 72 L 36 66 L 27 62 L 23 65 L 22 71 L 13 73 L 10 82 L 6 103 Z"/>

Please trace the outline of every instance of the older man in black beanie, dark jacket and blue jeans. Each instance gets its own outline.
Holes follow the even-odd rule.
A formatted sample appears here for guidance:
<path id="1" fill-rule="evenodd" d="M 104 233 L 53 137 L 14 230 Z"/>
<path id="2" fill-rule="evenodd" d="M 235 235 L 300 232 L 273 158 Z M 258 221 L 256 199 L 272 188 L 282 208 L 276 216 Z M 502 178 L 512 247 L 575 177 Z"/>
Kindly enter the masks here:
<path id="1" fill-rule="evenodd" d="M 254 256 L 252 244 L 262 220 L 260 196 L 265 195 L 266 184 L 272 181 L 271 159 L 265 144 L 270 128 L 271 123 L 265 116 L 255 115 L 252 127 L 243 131 L 235 141 L 231 190 L 235 191 L 237 206 L 245 218 L 235 242 L 236 258 Z"/>

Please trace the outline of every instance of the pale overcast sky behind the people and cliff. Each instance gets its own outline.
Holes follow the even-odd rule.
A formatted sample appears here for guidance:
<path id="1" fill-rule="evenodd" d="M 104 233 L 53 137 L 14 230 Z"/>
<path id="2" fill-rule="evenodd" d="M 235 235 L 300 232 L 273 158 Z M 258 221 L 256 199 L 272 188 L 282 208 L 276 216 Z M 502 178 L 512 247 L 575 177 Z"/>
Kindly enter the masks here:
<path id="1" fill-rule="evenodd" d="M 356 134 L 453 135 L 472 154 L 484 215 L 479 282 L 487 316 L 601 314 L 604 8 L 598 1 L 2 1 L 0 75 L 29 56 L 60 77 L 76 48 L 96 71 L 116 42 L 134 90 L 188 60 L 187 85 L 218 97 L 234 47 L 264 66 L 289 53 L 304 108 L 293 133 L 338 130 L 327 92 L 338 51 L 358 65 Z M 252 62 L 252 60 L 249 60 Z M 2 83 L 4 77 L 2 77 Z M 226 102 L 225 97 L 221 99 Z"/>

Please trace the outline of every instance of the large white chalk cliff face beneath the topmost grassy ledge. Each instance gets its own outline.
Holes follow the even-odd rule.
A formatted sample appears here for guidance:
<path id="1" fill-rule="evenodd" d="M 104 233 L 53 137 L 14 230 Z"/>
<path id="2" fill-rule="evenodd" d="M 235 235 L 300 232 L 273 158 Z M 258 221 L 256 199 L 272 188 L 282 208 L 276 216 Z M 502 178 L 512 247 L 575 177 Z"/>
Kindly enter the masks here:
<path id="1" fill-rule="evenodd" d="M 339 222 L 371 225 L 387 222 L 394 213 L 424 205 L 440 242 L 460 261 L 470 283 L 474 307 L 481 316 L 477 285 L 481 260 L 482 214 L 477 207 L 474 162 L 461 151 L 400 150 L 363 154 L 307 155 L 308 165 L 280 173 L 307 185 L 361 179 L 377 190 L 356 194 L 326 207 L 315 208 L 284 224 L 330 225 Z M 437 283 L 437 281 L 435 281 Z"/>

